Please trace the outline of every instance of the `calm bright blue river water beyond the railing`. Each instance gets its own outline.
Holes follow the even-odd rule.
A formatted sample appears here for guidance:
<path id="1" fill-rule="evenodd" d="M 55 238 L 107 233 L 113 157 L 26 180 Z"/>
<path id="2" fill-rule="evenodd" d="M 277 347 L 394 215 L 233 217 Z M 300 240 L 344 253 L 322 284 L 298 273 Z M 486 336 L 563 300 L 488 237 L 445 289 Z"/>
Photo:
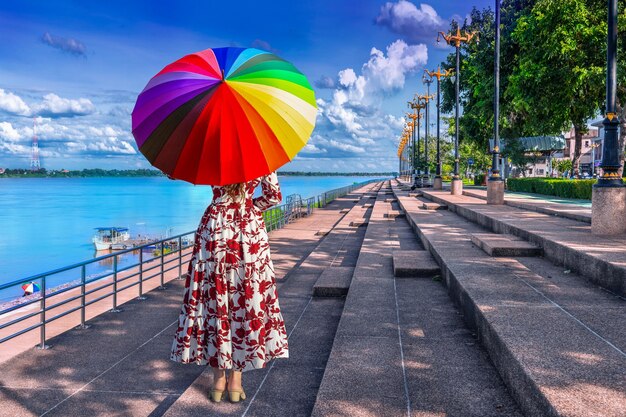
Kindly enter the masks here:
<path id="1" fill-rule="evenodd" d="M 288 176 L 279 181 L 283 196 L 309 197 L 368 179 Z M 95 227 L 128 227 L 133 237 L 195 230 L 211 201 L 210 187 L 163 177 L 6 178 L 0 192 L 0 284 L 93 259 Z M 136 256 L 120 262 L 136 262 Z M 111 265 L 90 268 L 93 275 Z M 47 285 L 75 279 L 77 273 L 59 275 Z M 11 295 L 20 295 L 19 290 L 0 292 L 0 301 Z"/>

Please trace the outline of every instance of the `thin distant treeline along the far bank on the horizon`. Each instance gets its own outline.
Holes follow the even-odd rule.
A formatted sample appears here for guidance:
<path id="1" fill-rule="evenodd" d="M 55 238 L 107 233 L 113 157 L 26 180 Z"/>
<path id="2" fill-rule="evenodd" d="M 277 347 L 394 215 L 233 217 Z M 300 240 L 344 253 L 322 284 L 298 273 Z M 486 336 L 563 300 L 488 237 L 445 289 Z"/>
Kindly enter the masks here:
<path id="1" fill-rule="evenodd" d="M 353 177 L 389 177 L 393 172 L 300 172 L 279 171 L 281 176 L 303 177 L 329 177 L 329 176 L 353 176 Z M 65 177 L 162 177 L 161 171 L 156 169 L 81 169 L 81 170 L 47 170 L 39 171 L 29 169 L 0 169 L 0 178 L 65 178 Z"/>

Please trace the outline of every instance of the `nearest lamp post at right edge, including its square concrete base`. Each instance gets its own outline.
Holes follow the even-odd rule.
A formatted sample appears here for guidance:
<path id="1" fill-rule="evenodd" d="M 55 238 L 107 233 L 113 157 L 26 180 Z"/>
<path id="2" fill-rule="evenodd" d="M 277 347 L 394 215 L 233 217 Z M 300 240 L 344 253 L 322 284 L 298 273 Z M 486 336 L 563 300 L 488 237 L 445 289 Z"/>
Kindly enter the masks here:
<path id="1" fill-rule="evenodd" d="M 602 147 L 602 175 L 594 184 L 591 197 L 591 231 L 599 235 L 626 232 L 626 187 L 618 174 L 620 168 L 617 131 L 619 117 L 615 111 L 617 90 L 617 0 L 608 0 L 606 51 L 606 116 Z"/>

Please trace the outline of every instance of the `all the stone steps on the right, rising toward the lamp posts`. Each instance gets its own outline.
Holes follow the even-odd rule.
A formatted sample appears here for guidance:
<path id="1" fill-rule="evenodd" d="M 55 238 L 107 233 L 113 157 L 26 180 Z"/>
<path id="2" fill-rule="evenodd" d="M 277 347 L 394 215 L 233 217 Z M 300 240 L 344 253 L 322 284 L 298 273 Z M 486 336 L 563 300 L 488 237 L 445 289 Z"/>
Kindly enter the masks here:
<path id="1" fill-rule="evenodd" d="M 606 240 L 598 243 L 580 221 L 487 206 L 446 191 L 423 190 L 424 197 L 448 206 L 427 211 L 399 184 L 393 188 L 441 266 L 448 293 L 525 415 L 626 415 L 624 245 L 603 253 Z M 486 232 L 491 249 L 531 243 L 545 258 L 490 256 L 482 248 Z M 619 245 L 626 239 L 611 240 Z"/>

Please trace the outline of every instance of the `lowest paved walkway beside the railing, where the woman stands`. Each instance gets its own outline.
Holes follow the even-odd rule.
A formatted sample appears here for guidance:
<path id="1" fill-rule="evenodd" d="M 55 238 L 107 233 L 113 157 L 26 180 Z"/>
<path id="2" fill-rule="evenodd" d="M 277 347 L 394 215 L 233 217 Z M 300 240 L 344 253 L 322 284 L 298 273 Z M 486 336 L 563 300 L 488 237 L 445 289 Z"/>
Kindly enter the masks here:
<path id="1" fill-rule="evenodd" d="M 297 269 L 321 241 L 316 233 L 331 229 L 343 216 L 340 210 L 355 206 L 355 196 L 363 192 L 270 234 L 292 359 L 282 360 L 271 374 L 246 374 L 244 387 L 251 399 L 233 407 L 220 404 L 225 406 L 219 408 L 222 415 L 271 415 L 267 411 L 273 400 L 293 407 L 293 413 L 283 409 L 279 415 L 303 415 L 303 407 L 312 408 L 315 396 L 304 388 L 317 389 L 343 299 L 313 300 L 310 289 L 317 274 L 287 271 Z M 148 293 L 145 301 L 125 303 L 121 313 L 93 318 L 89 329 L 52 338 L 49 350 L 29 349 L 0 364 L 0 416 L 160 416 L 190 387 L 200 389 L 206 400 L 207 368 L 168 359 L 182 290 L 182 281 L 171 281 L 167 289 Z M 288 375 L 293 379 L 285 385 Z M 255 398 L 255 388 L 263 385 L 271 388 Z M 197 404 L 192 409 L 202 415 L 208 411 Z"/>

